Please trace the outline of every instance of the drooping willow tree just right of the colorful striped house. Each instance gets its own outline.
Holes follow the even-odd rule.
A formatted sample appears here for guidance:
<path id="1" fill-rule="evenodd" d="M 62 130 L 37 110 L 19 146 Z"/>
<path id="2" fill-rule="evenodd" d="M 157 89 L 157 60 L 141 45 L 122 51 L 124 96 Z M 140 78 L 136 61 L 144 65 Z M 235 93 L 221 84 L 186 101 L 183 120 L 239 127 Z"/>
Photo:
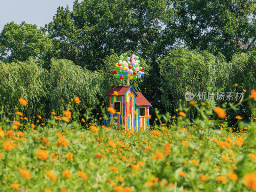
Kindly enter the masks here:
<path id="1" fill-rule="evenodd" d="M 179 100 L 185 100 L 186 91 L 196 95 L 208 92 L 208 87 L 222 88 L 228 81 L 228 66 L 223 55 L 213 56 L 207 51 L 179 48 L 168 52 L 159 64 L 162 78 L 159 89 L 166 110 L 174 111 Z"/>

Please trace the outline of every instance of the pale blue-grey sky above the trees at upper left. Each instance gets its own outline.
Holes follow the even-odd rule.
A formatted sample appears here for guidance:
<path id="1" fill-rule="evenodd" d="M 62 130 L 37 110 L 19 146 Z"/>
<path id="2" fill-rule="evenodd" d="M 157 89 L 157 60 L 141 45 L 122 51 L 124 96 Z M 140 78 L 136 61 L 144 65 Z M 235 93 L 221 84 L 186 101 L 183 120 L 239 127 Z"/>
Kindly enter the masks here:
<path id="1" fill-rule="evenodd" d="M 73 9 L 75 0 L 0 0 L 0 31 L 6 23 L 14 21 L 20 24 L 36 24 L 44 27 L 53 20 L 59 6 Z"/>

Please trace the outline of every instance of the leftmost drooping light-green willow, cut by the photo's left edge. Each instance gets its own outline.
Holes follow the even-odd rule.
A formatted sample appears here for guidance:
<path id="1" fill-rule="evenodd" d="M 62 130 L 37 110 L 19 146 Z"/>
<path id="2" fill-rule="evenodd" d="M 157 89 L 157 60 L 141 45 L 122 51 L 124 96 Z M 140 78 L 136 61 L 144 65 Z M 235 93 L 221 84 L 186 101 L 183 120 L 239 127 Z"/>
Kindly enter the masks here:
<path id="1" fill-rule="evenodd" d="M 42 63 L 33 59 L 0 63 L 0 105 L 7 111 L 7 108 L 21 107 L 18 99 L 22 97 L 28 101 L 28 106 L 22 109 L 27 116 L 44 115 L 45 104 L 41 101 L 47 97 L 48 75 Z"/>

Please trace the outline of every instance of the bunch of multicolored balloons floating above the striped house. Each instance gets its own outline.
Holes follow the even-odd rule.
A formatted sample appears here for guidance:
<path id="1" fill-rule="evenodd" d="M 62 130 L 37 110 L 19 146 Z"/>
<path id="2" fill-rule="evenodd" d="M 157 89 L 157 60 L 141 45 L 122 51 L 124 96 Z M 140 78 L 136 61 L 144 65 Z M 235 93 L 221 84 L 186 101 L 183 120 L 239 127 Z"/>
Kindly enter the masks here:
<path id="1" fill-rule="evenodd" d="M 112 72 L 116 78 L 127 79 L 127 84 L 129 80 L 136 80 L 144 75 L 143 68 L 140 67 L 139 57 L 132 55 L 132 58 L 127 57 L 124 60 L 124 56 L 121 55 L 120 60 L 116 63 L 115 70 Z"/>

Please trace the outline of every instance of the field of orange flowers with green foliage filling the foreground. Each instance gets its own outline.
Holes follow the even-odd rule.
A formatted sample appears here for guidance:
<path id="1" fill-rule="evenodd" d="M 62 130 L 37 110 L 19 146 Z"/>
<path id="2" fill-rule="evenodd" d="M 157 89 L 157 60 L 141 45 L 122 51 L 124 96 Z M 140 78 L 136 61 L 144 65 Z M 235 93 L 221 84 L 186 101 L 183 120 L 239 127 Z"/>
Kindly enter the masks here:
<path id="1" fill-rule="evenodd" d="M 202 114 L 194 122 L 186 119 L 191 107 Z M 256 124 L 237 117 L 234 132 L 212 103 L 157 114 L 168 124 L 148 132 L 84 126 L 84 119 L 70 120 L 71 109 L 62 117 L 52 112 L 46 123 L 15 110 L 14 119 L 0 121 L 0 191 L 256 190 Z"/>

